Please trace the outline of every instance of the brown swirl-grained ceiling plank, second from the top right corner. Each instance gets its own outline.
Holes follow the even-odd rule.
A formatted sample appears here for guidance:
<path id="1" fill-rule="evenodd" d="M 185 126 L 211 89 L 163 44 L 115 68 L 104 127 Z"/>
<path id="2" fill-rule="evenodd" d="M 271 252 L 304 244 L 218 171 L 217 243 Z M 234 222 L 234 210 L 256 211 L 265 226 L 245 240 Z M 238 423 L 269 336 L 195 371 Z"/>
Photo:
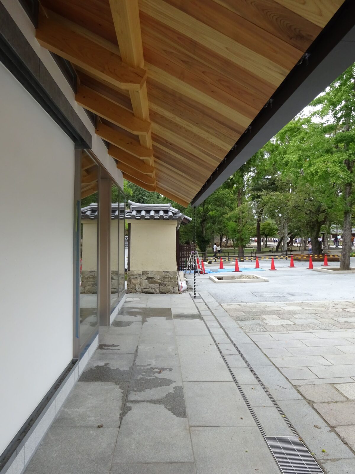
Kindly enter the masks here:
<path id="1" fill-rule="evenodd" d="M 307 51 L 320 33 L 319 27 L 305 18 L 295 16 L 290 9 L 279 5 L 277 0 L 214 1 L 302 51 Z M 287 3 L 290 3 L 289 0 Z"/>

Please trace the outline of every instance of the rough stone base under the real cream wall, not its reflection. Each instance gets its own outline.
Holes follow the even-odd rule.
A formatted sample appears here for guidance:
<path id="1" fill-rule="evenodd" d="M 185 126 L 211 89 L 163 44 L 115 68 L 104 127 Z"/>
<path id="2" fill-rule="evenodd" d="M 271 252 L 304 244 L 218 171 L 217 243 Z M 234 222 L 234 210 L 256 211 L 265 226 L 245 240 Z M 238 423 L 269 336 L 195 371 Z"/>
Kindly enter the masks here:
<path id="1" fill-rule="evenodd" d="M 177 271 L 129 270 L 127 293 L 177 293 Z"/>

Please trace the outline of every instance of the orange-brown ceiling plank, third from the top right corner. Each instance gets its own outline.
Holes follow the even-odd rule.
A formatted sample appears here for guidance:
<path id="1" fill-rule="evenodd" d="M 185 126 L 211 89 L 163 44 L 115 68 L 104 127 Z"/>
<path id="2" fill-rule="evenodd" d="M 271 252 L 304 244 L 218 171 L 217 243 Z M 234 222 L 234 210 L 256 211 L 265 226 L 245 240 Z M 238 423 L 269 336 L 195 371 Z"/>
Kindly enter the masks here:
<path id="1" fill-rule="evenodd" d="M 304 53 L 213 0 L 165 2 L 285 69 L 292 69 Z M 270 21 L 275 21 L 273 16 Z"/>

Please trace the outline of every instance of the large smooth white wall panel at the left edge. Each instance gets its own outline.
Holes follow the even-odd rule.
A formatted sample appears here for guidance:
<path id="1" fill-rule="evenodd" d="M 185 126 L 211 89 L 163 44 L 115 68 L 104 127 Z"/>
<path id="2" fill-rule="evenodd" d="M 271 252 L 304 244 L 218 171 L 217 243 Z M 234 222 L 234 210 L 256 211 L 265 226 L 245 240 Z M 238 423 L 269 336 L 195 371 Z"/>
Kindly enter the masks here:
<path id="1" fill-rule="evenodd" d="M 1 453 L 72 359 L 74 144 L 0 84 Z"/>

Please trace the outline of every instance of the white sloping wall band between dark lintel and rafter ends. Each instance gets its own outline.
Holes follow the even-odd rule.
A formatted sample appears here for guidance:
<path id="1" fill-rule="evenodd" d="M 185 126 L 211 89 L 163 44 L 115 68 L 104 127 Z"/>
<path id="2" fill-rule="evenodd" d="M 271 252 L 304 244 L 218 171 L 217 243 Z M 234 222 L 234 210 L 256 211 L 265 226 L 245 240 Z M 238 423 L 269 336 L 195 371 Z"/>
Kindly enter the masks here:
<path id="1" fill-rule="evenodd" d="M 55 82 L 61 88 L 63 94 L 71 103 L 71 106 L 79 115 L 81 121 L 84 123 L 86 128 L 92 134 L 92 151 L 98 158 L 98 161 L 107 170 L 108 173 L 114 178 L 118 186 L 123 189 L 123 176 L 122 173 L 117 169 L 115 160 L 107 154 L 107 148 L 103 144 L 101 138 L 95 134 L 95 127 L 92 125 L 89 117 L 85 110 L 75 102 L 74 92 L 72 91 L 67 80 L 63 76 L 58 65 L 55 63 L 53 57 L 45 48 L 39 45 L 35 39 L 35 28 L 32 25 L 30 19 L 21 7 L 18 0 L 1 0 L 4 7 L 8 10 L 11 17 L 16 21 L 18 27 L 21 29 L 22 34 L 26 37 L 29 44 L 33 47 L 36 54 L 39 56 L 49 73 L 52 75 Z"/>

